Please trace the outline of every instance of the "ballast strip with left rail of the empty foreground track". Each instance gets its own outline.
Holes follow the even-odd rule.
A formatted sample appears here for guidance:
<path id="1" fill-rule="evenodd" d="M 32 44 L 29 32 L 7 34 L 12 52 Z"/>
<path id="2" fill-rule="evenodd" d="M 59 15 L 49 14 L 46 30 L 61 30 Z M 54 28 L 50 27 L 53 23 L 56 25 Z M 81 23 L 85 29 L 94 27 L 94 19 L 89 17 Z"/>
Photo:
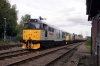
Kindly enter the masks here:
<path id="1" fill-rule="evenodd" d="M 61 50 L 62 48 L 68 47 L 69 45 L 66 46 L 60 46 L 60 47 L 56 47 L 56 48 L 51 48 L 51 49 L 47 49 L 47 50 L 43 50 L 43 51 L 37 51 L 35 53 L 29 53 L 29 54 L 24 54 L 23 56 L 18 56 L 18 57 L 12 57 L 10 59 L 5 59 L 3 61 L 0 61 L 0 64 L 2 66 L 13 66 L 14 64 L 19 65 L 19 64 L 24 64 L 25 62 L 28 62 L 31 59 L 34 58 L 38 58 L 41 56 L 44 56 L 48 53 L 54 52 L 54 51 L 58 51 Z M 71 45 L 70 45 L 71 46 Z M 70 47 L 71 48 L 71 47 Z"/>

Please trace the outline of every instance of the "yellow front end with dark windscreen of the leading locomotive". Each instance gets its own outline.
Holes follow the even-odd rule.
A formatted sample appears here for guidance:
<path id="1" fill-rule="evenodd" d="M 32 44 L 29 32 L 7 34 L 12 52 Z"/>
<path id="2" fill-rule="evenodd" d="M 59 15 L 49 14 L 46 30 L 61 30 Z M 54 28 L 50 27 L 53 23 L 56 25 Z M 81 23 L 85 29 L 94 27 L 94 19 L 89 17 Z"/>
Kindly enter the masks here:
<path id="1" fill-rule="evenodd" d="M 36 19 L 24 23 L 22 48 L 38 49 L 40 48 L 40 24 Z"/>

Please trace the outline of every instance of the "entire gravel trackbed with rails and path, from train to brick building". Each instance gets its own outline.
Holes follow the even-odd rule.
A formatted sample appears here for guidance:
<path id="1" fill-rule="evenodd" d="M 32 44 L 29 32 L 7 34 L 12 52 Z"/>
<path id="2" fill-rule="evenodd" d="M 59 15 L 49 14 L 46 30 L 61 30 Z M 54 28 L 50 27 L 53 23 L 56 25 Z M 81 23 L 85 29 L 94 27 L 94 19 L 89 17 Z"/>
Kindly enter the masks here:
<path id="1" fill-rule="evenodd" d="M 13 52 L 7 52 L 8 55 L 1 53 L 1 66 L 94 66 L 90 52 L 83 42 L 37 51 Z"/>

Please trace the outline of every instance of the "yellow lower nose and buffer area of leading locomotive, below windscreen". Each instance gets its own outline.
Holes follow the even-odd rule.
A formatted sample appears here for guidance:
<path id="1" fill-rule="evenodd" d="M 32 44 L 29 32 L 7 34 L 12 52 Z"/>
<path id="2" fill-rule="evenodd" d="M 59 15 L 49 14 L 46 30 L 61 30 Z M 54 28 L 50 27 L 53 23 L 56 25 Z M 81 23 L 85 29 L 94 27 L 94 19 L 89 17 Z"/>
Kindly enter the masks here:
<path id="1" fill-rule="evenodd" d="M 40 48 L 40 30 L 23 30 L 23 46 L 25 49 Z"/>

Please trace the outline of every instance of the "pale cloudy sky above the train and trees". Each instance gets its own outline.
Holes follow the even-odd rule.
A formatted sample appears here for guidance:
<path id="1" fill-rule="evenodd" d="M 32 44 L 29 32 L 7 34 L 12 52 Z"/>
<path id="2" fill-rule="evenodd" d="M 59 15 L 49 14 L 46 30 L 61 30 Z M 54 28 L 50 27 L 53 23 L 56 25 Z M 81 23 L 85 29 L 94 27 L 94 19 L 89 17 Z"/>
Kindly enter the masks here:
<path id="1" fill-rule="evenodd" d="M 91 22 L 86 15 L 86 0 L 9 0 L 16 4 L 18 23 L 25 14 L 46 18 L 46 23 L 69 33 L 91 36 Z"/>

